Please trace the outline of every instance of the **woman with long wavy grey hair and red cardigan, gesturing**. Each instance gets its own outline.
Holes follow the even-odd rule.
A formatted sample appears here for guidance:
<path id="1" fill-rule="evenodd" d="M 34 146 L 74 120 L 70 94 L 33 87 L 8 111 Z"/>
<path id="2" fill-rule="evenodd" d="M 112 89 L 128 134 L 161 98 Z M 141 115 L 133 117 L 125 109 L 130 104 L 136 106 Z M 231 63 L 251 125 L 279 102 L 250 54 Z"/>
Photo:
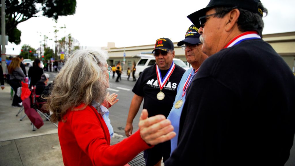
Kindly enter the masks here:
<path id="1" fill-rule="evenodd" d="M 112 129 L 104 117 L 106 108 L 100 104 L 108 96 L 111 69 L 107 59 L 101 51 L 76 51 L 55 77 L 46 106 L 53 112 L 51 121 L 58 121 L 65 165 L 125 165 L 143 150 L 176 135 L 164 115 L 148 118 L 143 110 L 139 130 L 110 145 Z"/>

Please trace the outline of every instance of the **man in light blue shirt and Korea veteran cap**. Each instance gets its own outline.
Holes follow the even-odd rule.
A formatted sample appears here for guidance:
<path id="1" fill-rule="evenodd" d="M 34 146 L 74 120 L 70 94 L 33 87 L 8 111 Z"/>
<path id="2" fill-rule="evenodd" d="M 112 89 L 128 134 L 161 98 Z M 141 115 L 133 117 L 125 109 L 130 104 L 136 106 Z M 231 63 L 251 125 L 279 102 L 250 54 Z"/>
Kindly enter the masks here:
<path id="1" fill-rule="evenodd" d="M 173 103 L 173 107 L 168 115 L 171 121 L 176 137 L 171 139 L 171 153 L 177 147 L 178 131 L 179 131 L 179 119 L 185 102 L 187 88 L 189 87 L 191 80 L 197 73 L 199 67 L 203 61 L 208 58 L 206 54 L 202 52 L 202 43 L 200 42 L 200 34 L 198 33 L 199 28 L 191 25 L 185 34 L 185 39 L 177 43 L 178 46 L 182 45 L 186 60 L 191 64 L 192 68 L 188 69 L 182 76 L 178 88 L 177 94 Z"/>

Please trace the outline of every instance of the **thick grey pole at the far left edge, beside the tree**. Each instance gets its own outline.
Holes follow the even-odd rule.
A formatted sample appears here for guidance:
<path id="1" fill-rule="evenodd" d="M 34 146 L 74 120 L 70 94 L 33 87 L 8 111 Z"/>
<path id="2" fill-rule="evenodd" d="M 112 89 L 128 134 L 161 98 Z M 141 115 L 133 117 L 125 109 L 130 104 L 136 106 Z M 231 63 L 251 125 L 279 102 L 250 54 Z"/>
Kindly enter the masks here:
<path id="1" fill-rule="evenodd" d="M 6 61 L 6 48 L 5 48 L 5 0 L 1 0 L 1 34 L 2 34 L 2 39 L 1 39 L 1 42 L 2 42 L 2 53 L 1 53 L 1 59 L 2 59 L 2 62 L 1 62 L 1 66 L 2 66 L 2 70 L 3 71 L 6 71 L 6 64 L 5 64 L 5 61 Z"/>

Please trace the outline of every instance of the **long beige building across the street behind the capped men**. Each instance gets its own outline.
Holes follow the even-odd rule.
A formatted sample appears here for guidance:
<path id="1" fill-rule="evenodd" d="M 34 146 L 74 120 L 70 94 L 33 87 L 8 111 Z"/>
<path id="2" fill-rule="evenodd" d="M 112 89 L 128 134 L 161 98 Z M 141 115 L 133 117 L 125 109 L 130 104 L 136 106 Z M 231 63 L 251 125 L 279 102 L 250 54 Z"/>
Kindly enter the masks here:
<path id="1" fill-rule="evenodd" d="M 268 42 L 276 52 L 282 56 L 288 66 L 294 72 L 295 66 L 295 32 L 284 32 L 275 34 L 263 35 L 263 40 Z M 179 58 L 186 62 L 184 50 L 177 46 L 177 42 L 174 43 L 175 58 Z M 132 47 L 116 48 L 114 43 L 108 43 L 108 46 L 103 48 L 109 53 L 109 65 L 116 65 L 121 62 L 122 69 L 127 70 L 128 67 L 132 67 L 133 61 L 135 63 L 140 59 L 137 54 L 149 54 L 152 55 L 152 51 L 155 45 L 140 45 Z M 125 56 L 124 56 L 125 55 Z"/>

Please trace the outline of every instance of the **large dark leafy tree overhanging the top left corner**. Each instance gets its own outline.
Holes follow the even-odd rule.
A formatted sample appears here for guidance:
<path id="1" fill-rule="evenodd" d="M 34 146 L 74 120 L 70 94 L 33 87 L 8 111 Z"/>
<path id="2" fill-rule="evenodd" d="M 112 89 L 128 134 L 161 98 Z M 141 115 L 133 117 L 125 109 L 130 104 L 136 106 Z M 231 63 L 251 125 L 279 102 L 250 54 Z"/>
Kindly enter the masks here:
<path id="1" fill-rule="evenodd" d="M 55 20 L 58 16 L 73 15 L 76 12 L 76 4 L 76 0 L 6 0 L 5 28 L 9 42 L 20 43 L 21 31 L 17 29 L 19 23 L 41 14 Z"/>

